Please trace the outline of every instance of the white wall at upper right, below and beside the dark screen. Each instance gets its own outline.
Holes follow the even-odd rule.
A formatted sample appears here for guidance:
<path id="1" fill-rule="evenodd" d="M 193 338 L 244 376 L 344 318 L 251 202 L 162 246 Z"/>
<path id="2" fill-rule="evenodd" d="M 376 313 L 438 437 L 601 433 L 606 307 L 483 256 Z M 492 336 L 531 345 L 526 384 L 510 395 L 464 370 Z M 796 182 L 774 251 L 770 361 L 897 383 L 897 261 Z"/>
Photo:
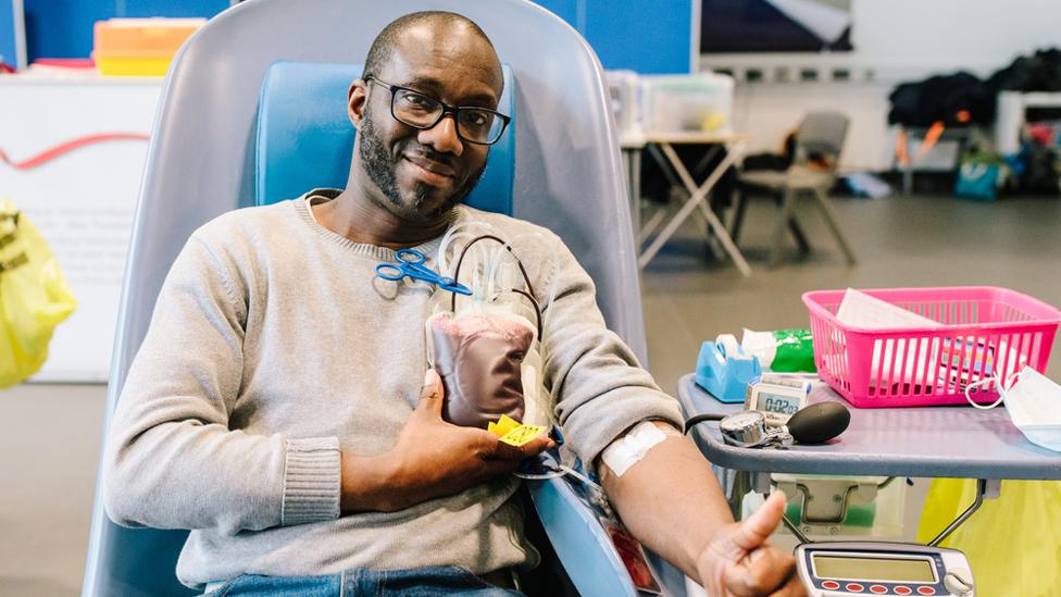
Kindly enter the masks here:
<path id="1" fill-rule="evenodd" d="M 1022 53 L 1061 47 L 1061 0 L 853 0 L 851 12 L 853 52 L 701 57 L 701 69 L 734 72 L 734 127 L 751 137 L 750 151 L 776 150 L 809 110 L 839 109 L 851 116 L 841 167 L 888 170 L 888 94 L 897 83 L 958 70 L 987 76 Z M 747 83 L 748 69 L 765 83 Z M 804 69 L 819 82 L 800 82 Z M 851 80 L 831 80 L 836 69 Z"/>

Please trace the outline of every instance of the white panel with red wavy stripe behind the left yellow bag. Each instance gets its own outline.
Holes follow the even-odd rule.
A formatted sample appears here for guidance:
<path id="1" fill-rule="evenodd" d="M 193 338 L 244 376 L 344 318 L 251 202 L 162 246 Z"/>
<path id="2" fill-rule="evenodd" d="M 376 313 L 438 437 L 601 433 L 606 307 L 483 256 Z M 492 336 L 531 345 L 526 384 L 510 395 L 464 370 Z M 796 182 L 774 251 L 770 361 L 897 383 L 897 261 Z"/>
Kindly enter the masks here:
<path id="1" fill-rule="evenodd" d="M 150 133 L 162 79 L 0 77 L 0 147 L 16 161 L 103 133 Z M 0 164 L 10 197 L 48 241 L 77 309 L 55 328 L 34 381 L 105 382 L 148 144 L 95 144 L 32 170 Z"/>

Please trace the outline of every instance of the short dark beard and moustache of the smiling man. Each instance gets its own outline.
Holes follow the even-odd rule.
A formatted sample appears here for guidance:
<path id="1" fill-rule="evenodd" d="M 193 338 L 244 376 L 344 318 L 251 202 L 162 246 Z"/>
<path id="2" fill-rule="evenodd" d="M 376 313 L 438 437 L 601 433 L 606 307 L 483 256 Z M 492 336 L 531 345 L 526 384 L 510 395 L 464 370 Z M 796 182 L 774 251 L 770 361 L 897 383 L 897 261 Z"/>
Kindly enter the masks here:
<path id="1" fill-rule="evenodd" d="M 383 191 L 384 196 L 387 197 L 387 200 L 392 206 L 409 212 L 403 215 L 417 214 L 421 217 L 429 220 L 438 217 L 463 201 L 472 192 L 472 189 L 475 188 L 475 185 L 479 183 L 479 179 L 483 177 L 483 172 L 486 171 L 486 162 L 484 161 L 479 171 L 469 176 L 464 185 L 454 189 L 453 194 L 447 197 L 441 206 L 430 213 L 424 213 L 424 204 L 427 202 L 432 191 L 436 190 L 436 188 L 425 183 L 415 183 L 413 185 L 412 198 L 408 201 L 402 200 L 401 191 L 398 189 L 398 181 L 395 177 L 397 161 L 391 158 L 387 147 L 379 140 L 372 117 L 367 113 L 365 113 L 364 121 L 361 123 L 360 134 L 361 149 L 359 150 L 359 154 L 365 173 L 369 174 L 369 178 L 379 187 L 379 190 Z M 435 159 L 444 163 L 448 161 L 445 157 L 439 157 L 439 153 L 429 147 L 421 146 L 421 151 L 428 159 Z"/>

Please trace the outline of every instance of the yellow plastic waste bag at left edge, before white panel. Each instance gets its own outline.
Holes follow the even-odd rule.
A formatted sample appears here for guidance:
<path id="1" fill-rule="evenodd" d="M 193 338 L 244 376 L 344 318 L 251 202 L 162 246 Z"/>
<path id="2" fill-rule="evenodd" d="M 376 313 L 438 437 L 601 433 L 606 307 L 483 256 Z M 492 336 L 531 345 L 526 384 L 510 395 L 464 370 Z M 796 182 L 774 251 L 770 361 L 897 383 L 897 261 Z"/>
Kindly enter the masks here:
<path id="1" fill-rule="evenodd" d="M 0 388 L 40 369 L 52 331 L 75 307 L 40 233 L 11 201 L 0 200 Z"/>

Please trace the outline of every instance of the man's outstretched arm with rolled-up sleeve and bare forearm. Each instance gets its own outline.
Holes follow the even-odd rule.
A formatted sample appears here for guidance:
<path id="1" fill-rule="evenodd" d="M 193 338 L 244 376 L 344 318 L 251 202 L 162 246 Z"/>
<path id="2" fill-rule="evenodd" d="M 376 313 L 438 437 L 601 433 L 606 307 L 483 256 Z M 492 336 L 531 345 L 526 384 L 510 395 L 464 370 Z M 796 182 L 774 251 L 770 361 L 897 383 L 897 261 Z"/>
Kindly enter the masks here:
<path id="1" fill-rule="evenodd" d="M 600 467 L 604 490 L 635 537 L 695 580 L 712 597 L 772 595 L 759 587 L 787 587 L 777 595 L 803 595 L 795 560 L 762 546 L 781 520 L 783 500 L 767 502 L 736 524 L 711 464 L 688 439 L 677 436 L 677 401 L 663 394 L 633 351 L 608 329 L 596 287 L 558 238 L 554 299 L 544 312 L 545 378 L 556 402 L 567 447 L 587 464 L 637 423 L 657 420 L 669 436 L 622 476 Z M 629 291 L 636 293 L 637 288 Z M 773 582 L 776 581 L 776 582 Z M 771 584 L 773 582 L 773 584 Z M 727 590 L 726 588 L 729 588 Z"/>

